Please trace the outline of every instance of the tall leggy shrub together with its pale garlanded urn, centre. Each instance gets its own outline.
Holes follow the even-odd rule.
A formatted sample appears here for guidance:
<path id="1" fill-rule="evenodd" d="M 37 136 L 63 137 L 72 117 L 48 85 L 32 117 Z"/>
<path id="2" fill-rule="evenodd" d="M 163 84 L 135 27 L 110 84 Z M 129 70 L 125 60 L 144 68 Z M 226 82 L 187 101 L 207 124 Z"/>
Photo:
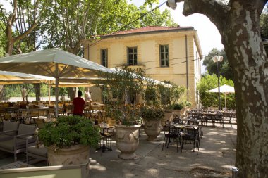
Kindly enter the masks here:
<path id="1" fill-rule="evenodd" d="M 106 99 L 106 113 L 118 122 L 116 125 L 116 146 L 121 159 L 136 158 L 135 151 L 139 145 L 138 125 L 140 96 L 144 81 L 143 71 L 128 68 L 115 69 L 112 74 L 105 74 L 101 85 L 102 94 Z"/>

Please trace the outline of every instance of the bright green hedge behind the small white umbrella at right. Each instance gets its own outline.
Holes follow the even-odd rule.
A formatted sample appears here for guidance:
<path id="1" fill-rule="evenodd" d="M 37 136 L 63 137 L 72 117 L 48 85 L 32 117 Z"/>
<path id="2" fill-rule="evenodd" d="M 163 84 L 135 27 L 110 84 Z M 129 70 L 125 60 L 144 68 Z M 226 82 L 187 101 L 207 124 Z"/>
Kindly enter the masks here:
<path id="1" fill-rule="evenodd" d="M 232 80 L 227 80 L 224 77 L 220 77 L 220 84 L 228 84 L 230 86 L 233 86 Z M 218 93 L 209 93 L 210 89 L 214 89 L 218 87 L 218 77 L 216 75 L 208 75 L 206 74 L 203 76 L 200 80 L 200 82 L 197 84 L 197 90 L 200 94 L 200 102 L 205 107 L 217 107 L 218 106 Z M 236 108 L 235 104 L 235 97 L 234 94 L 227 94 L 226 95 L 226 107 L 229 109 Z M 224 94 L 221 94 L 221 107 L 224 107 Z"/>

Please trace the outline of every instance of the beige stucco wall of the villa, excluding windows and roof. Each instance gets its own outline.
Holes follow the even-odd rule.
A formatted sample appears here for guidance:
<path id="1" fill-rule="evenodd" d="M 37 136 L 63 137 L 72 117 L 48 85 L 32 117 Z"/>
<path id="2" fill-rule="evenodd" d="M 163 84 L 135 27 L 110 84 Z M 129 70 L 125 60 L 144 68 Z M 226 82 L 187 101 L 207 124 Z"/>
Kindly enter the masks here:
<path id="1" fill-rule="evenodd" d="M 184 87 L 187 86 L 186 61 L 188 59 L 189 101 L 195 107 L 197 102 L 196 83 L 200 80 L 200 60 L 197 64 L 195 59 L 202 55 L 198 49 L 195 34 L 195 31 L 164 32 L 109 37 L 97 43 L 86 40 L 84 42 L 85 58 L 89 56 L 90 61 L 100 63 L 101 49 L 108 49 L 108 68 L 121 67 L 127 65 L 127 48 L 136 46 L 138 65 L 142 65 L 147 75 L 156 80 L 170 80 Z M 187 54 L 186 43 L 188 44 Z M 89 54 L 88 44 L 91 45 Z M 165 44 L 169 45 L 168 68 L 160 67 L 159 63 L 159 45 Z"/>

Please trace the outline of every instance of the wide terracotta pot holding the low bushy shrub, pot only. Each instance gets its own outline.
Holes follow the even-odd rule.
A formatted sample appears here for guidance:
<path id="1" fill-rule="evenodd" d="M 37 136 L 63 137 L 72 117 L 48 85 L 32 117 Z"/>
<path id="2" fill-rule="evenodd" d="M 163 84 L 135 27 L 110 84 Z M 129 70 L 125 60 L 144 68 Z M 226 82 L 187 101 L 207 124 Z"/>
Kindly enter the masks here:
<path id="1" fill-rule="evenodd" d="M 74 145 L 70 148 L 47 147 L 49 165 L 80 165 L 86 164 L 90 158 L 90 146 Z"/>

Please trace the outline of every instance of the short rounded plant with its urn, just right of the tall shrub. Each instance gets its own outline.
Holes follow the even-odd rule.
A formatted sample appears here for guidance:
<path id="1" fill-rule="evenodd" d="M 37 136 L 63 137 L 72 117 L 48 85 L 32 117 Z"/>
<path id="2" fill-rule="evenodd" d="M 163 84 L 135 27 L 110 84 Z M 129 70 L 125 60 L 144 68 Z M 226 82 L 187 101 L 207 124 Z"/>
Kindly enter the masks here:
<path id="1" fill-rule="evenodd" d="M 147 134 L 148 141 L 158 141 L 162 125 L 161 120 L 164 118 L 164 110 L 161 108 L 142 108 L 142 119 L 145 122 L 144 129 Z"/>

